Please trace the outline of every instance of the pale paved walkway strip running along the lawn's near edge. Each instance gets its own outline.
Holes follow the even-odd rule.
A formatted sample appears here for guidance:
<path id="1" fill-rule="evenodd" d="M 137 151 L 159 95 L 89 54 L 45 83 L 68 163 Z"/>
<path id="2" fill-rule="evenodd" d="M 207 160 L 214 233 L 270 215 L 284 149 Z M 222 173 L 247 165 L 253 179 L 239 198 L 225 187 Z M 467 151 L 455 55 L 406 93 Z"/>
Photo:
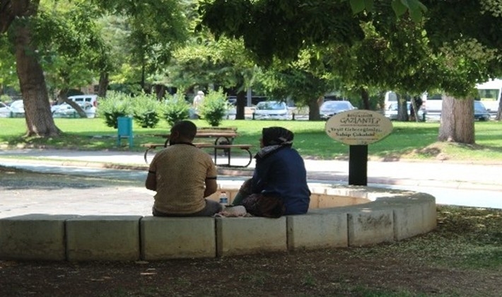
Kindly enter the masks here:
<path id="1" fill-rule="evenodd" d="M 1 163 L 49 163 L 95 168 L 124 168 L 146 170 L 142 152 L 129 151 L 70 151 L 23 149 L 0 151 Z M 238 162 L 236 162 L 238 163 Z M 347 182 L 348 161 L 305 160 L 310 181 Z M 246 170 L 220 168 L 221 175 L 251 174 L 254 161 Z M 482 189 L 502 191 L 502 164 L 453 162 L 369 161 L 368 183 L 384 185 L 413 185 Z"/>

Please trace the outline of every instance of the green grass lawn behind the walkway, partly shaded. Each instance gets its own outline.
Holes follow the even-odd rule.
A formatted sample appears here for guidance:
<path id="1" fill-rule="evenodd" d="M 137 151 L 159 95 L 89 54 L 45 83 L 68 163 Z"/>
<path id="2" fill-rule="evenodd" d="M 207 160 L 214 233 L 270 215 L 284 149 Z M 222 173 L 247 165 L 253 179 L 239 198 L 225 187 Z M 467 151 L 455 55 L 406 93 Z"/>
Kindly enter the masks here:
<path id="1" fill-rule="evenodd" d="M 126 150 L 127 141 L 117 147 L 117 130 L 107 127 L 103 119 L 54 119 L 64 133 L 57 139 L 26 138 L 25 120 L 0 119 L 0 146 L 74 148 L 84 150 Z M 203 120 L 194 120 L 198 127 L 208 127 Z M 393 122 L 390 136 L 368 146 L 371 158 L 443 158 L 453 161 L 502 161 L 502 122 L 476 122 L 476 144 L 459 145 L 436 142 L 438 122 Z M 293 146 L 305 158 L 346 158 L 349 146 L 334 141 L 325 133 L 325 122 L 225 120 L 222 127 L 237 127 L 235 144 L 256 144 L 263 127 L 282 126 L 295 132 Z M 143 151 L 141 144 L 161 142 L 153 136 L 168 132 L 168 124 L 161 121 L 155 129 L 134 124 L 134 151 Z"/>

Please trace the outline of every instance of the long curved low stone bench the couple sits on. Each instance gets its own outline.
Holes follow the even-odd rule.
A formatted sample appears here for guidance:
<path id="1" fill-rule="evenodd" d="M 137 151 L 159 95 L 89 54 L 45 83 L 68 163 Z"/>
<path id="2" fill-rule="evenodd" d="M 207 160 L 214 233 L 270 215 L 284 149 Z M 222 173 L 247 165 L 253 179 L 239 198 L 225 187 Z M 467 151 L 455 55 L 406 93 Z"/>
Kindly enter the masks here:
<path id="1" fill-rule="evenodd" d="M 221 186 L 230 201 L 237 187 Z M 28 214 L 0 219 L 0 260 L 165 260 L 402 240 L 436 228 L 429 194 L 311 187 L 308 214 L 279 219 Z M 214 194 L 211 199 L 217 199 Z"/>

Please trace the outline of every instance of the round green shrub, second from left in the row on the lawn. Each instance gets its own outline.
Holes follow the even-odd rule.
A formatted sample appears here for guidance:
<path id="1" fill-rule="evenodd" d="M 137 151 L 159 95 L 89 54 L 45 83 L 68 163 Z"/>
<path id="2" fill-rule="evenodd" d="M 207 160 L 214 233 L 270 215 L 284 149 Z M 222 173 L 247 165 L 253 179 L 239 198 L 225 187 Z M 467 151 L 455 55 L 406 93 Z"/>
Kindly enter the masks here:
<path id="1" fill-rule="evenodd" d="M 158 116 L 159 102 L 155 94 L 141 93 L 131 99 L 132 117 L 143 128 L 156 127 L 160 121 Z"/>

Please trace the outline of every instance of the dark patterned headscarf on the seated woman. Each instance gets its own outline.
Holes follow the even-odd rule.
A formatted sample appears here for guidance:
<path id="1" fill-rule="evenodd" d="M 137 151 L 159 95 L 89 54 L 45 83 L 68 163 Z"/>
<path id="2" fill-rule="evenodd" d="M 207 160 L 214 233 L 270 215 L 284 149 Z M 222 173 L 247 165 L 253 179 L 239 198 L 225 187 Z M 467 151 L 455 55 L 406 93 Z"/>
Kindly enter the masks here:
<path id="1" fill-rule="evenodd" d="M 263 148 L 256 154 L 255 158 L 264 158 L 264 156 L 277 151 L 279 148 L 291 147 L 294 136 L 293 132 L 283 127 L 263 128 Z"/>

